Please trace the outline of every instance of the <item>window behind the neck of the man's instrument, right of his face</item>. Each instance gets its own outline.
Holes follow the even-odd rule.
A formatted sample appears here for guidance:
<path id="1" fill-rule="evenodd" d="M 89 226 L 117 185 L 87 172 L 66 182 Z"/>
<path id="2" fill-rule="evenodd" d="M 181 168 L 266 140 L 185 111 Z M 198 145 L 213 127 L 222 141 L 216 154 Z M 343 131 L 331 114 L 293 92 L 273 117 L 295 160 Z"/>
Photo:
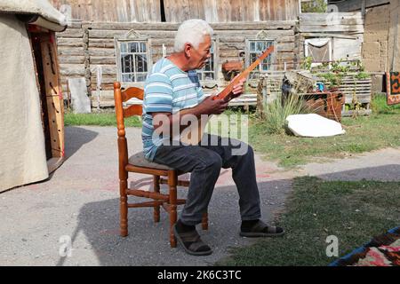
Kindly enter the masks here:
<path id="1" fill-rule="evenodd" d="M 266 51 L 269 46 L 275 45 L 272 40 L 248 40 L 247 41 L 247 58 L 246 58 L 246 66 L 249 67 L 252 65 L 256 59 L 260 57 L 262 52 Z M 272 58 L 273 53 L 268 55 L 266 59 L 264 59 L 258 67 L 255 67 L 254 70 L 249 75 L 249 79 L 258 79 L 260 72 L 266 72 L 271 70 L 272 68 Z"/>

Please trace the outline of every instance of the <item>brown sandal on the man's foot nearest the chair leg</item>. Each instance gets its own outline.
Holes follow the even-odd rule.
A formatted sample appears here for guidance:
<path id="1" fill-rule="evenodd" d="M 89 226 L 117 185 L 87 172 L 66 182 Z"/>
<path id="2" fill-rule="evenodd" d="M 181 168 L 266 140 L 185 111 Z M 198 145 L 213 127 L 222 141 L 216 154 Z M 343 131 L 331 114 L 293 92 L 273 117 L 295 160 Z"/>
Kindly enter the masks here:
<path id="1" fill-rule="evenodd" d="M 176 225 L 173 225 L 173 233 L 175 233 L 176 239 L 180 242 L 180 245 L 185 249 L 185 251 L 192 256 L 209 256 L 212 254 L 212 249 L 200 250 L 200 248 L 208 247 L 201 239 L 200 235 L 196 230 L 187 233 L 178 233 L 176 230 Z M 185 243 L 190 243 L 188 247 Z"/>

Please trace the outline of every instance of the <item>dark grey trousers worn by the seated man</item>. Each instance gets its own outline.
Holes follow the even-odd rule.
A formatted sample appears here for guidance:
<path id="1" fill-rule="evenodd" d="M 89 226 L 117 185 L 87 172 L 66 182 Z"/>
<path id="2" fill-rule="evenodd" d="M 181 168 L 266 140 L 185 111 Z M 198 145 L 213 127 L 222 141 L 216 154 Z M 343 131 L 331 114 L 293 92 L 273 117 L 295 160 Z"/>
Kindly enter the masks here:
<path id="1" fill-rule="evenodd" d="M 242 220 L 261 217 L 254 154 L 244 142 L 204 134 L 198 146 L 159 146 L 154 162 L 191 173 L 187 202 L 180 214 L 182 223 L 201 223 L 221 168 L 232 168 Z"/>

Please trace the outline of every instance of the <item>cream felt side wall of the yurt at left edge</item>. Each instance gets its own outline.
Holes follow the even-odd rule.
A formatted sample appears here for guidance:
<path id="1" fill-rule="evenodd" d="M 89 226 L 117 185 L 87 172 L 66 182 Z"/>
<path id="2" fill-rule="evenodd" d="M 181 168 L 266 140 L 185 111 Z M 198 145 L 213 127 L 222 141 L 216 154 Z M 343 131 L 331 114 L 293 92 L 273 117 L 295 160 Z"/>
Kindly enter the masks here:
<path id="1" fill-rule="evenodd" d="M 25 24 L 0 14 L 0 192 L 49 176 L 39 91 Z"/>

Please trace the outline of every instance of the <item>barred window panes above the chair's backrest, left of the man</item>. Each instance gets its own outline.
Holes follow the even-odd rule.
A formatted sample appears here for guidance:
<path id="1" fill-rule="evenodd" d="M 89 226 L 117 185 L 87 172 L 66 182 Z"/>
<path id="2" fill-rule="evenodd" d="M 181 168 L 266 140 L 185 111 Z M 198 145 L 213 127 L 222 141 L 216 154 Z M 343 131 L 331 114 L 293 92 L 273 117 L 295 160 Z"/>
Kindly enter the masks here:
<path id="1" fill-rule="evenodd" d="M 122 83 L 144 82 L 148 75 L 148 43 L 119 42 L 119 77 Z"/>

